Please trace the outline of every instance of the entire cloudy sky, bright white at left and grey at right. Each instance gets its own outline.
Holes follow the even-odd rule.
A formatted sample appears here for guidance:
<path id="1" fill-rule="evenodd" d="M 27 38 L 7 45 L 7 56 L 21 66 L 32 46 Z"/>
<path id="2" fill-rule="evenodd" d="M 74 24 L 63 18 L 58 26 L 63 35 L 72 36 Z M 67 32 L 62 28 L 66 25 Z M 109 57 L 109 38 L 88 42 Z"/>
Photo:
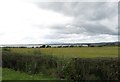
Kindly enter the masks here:
<path id="1" fill-rule="evenodd" d="M 118 41 L 118 2 L 0 0 L 0 44 Z"/>

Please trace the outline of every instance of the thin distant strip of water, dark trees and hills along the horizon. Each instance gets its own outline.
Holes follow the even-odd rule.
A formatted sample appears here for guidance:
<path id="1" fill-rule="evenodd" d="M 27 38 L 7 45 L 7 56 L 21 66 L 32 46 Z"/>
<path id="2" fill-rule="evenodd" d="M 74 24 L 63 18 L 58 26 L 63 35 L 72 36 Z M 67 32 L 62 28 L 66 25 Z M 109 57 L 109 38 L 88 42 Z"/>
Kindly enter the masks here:
<path id="1" fill-rule="evenodd" d="M 120 42 L 100 42 L 100 43 L 54 43 L 54 44 L 6 44 L 0 45 L 0 47 L 29 47 L 29 48 L 40 48 L 40 47 L 74 47 L 74 46 L 120 46 Z"/>

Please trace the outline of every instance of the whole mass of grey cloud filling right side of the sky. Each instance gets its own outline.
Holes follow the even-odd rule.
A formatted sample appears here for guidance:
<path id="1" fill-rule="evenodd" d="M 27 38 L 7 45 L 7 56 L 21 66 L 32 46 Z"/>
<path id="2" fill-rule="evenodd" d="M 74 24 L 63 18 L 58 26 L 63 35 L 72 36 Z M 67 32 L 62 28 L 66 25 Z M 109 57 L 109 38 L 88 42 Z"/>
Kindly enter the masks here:
<path id="1" fill-rule="evenodd" d="M 108 27 L 100 23 L 100 21 L 105 19 L 110 19 L 109 23 L 114 23 L 111 22 L 111 18 L 118 15 L 117 2 L 43 2 L 37 3 L 37 6 L 74 17 L 73 22 L 69 25 L 52 26 L 51 29 L 55 30 L 55 32 L 48 35 L 47 38 L 70 38 L 70 34 L 86 36 L 99 36 L 101 34 L 111 36 L 118 34 L 118 29 L 116 29 L 118 25 Z M 117 22 L 117 20 L 114 21 Z M 111 28 L 115 30 L 111 30 Z"/>

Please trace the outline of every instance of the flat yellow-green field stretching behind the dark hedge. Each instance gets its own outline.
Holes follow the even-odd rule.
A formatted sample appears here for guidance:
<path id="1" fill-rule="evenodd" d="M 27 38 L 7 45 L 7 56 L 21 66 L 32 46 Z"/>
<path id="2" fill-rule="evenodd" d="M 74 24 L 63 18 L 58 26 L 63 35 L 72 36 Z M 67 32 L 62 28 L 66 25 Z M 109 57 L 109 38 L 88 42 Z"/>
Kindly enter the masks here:
<path id="1" fill-rule="evenodd" d="M 12 52 L 23 54 L 47 54 L 57 57 L 118 57 L 118 47 L 80 47 L 80 48 L 11 48 Z"/>

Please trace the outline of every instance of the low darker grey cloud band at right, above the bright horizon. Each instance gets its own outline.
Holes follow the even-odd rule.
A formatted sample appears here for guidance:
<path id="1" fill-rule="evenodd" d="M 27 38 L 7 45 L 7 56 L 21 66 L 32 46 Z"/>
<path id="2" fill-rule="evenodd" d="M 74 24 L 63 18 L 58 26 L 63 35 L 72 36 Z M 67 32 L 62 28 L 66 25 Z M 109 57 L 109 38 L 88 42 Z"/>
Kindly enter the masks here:
<path id="1" fill-rule="evenodd" d="M 91 35 L 97 34 L 110 34 L 117 35 L 117 31 L 113 31 L 108 27 L 101 24 L 83 24 L 81 26 L 67 25 L 67 26 L 53 26 L 52 29 L 56 30 L 59 34 L 84 34 L 88 33 Z"/>

